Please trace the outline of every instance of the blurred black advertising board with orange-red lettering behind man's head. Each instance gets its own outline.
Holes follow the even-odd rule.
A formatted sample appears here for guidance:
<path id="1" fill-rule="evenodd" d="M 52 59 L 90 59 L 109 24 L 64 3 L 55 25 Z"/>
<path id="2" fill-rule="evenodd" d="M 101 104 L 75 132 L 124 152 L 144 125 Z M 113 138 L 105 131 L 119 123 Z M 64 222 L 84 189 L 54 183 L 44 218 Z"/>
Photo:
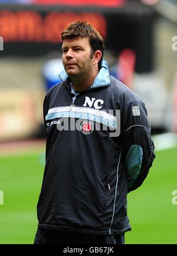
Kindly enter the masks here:
<path id="1" fill-rule="evenodd" d="M 79 1 L 73 3 L 76 2 Z M 102 2 L 120 4 L 116 0 Z M 60 52 L 61 31 L 73 21 L 85 20 L 100 32 L 106 49 L 114 56 L 123 49 L 132 49 L 136 53 L 136 70 L 148 72 L 152 69 L 152 12 L 139 2 L 133 2 L 126 1 L 115 8 L 0 5 L 0 37 L 4 40 L 1 56 L 40 56 Z"/>

